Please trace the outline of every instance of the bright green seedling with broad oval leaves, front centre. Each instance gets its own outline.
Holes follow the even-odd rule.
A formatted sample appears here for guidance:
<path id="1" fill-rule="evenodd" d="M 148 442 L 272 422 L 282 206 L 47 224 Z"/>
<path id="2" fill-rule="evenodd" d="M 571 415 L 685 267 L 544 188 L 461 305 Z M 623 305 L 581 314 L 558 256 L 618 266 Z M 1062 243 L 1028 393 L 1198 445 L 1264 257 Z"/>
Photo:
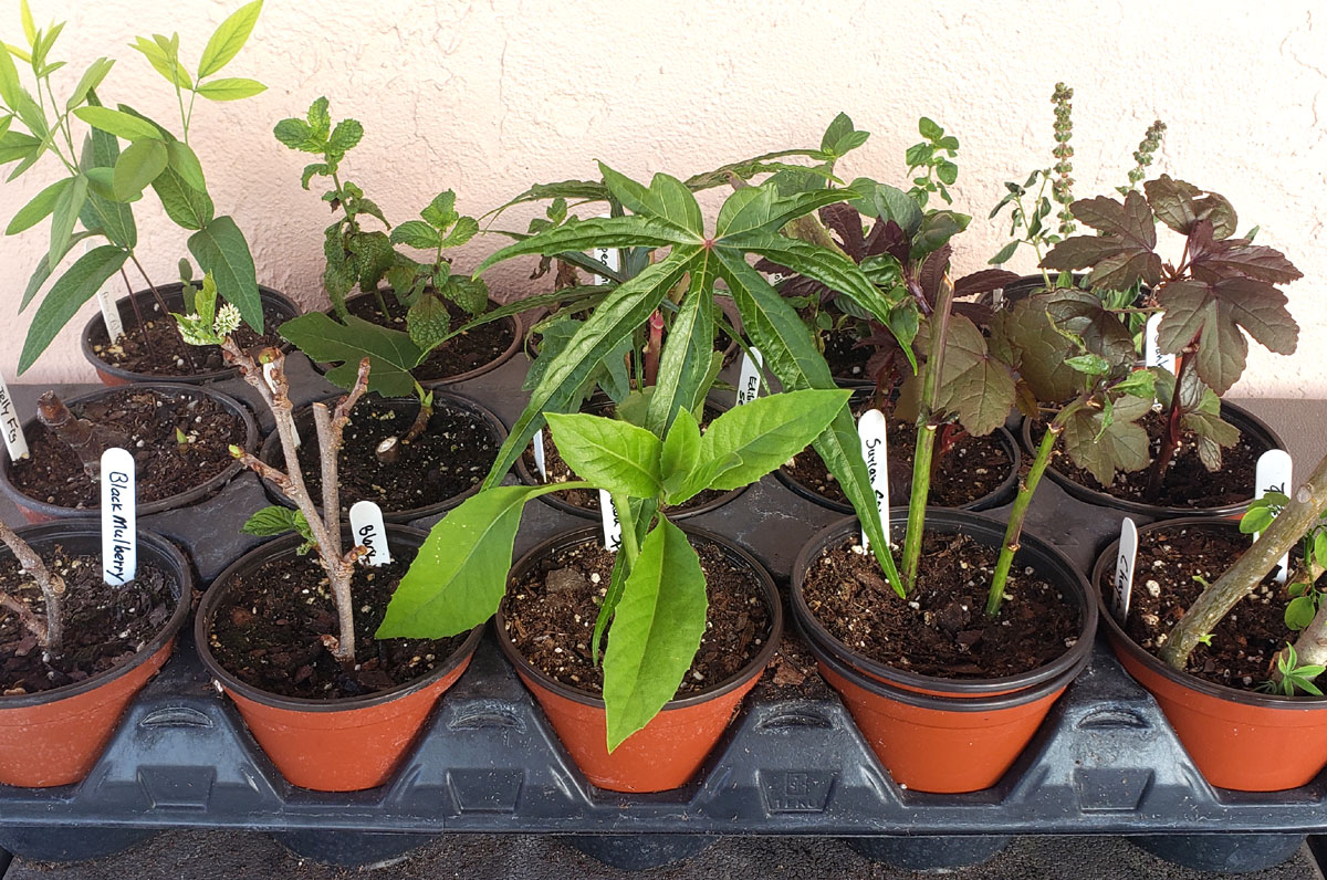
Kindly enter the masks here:
<path id="1" fill-rule="evenodd" d="M 660 507 L 682 504 L 706 488 L 726 491 L 760 479 L 821 434 L 848 397 L 845 390 L 762 397 L 719 415 L 703 435 L 686 407 L 662 431 L 548 413 L 559 453 L 583 480 L 495 486 L 463 502 L 430 532 L 377 637 L 438 637 L 487 620 L 507 589 L 522 511 L 539 495 L 597 487 L 612 495 L 620 515 L 649 508 L 649 516 L 622 520 L 622 547 L 591 642 L 600 662 L 606 632 L 608 749 L 617 749 L 675 696 L 705 633 L 701 561 Z"/>

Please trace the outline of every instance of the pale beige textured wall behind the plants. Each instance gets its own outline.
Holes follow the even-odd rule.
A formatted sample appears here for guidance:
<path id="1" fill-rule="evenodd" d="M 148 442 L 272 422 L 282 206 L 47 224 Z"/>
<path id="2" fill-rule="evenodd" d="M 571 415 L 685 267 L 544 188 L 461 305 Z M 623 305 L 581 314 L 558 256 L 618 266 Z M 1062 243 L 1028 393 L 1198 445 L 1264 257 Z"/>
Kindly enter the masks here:
<path id="1" fill-rule="evenodd" d="M 109 54 L 119 62 L 104 100 L 163 119 L 176 118 L 174 93 L 127 42 L 178 31 L 192 65 L 239 5 L 31 1 L 38 27 L 69 21 L 54 53 L 70 60 L 66 89 Z M 0 0 L 0 36 L 21 40 L 17 0 Z M 218 214 L 234 214 L 249 238 L 259 280 L 307 304 L 322 296 L 329 218 L 300 188 L 307 157 L 271 130 L 320 94 L 334 117 L 364 123 L 344 174 L 393 222 L 447 187 L 478 215 L 532 182 L 591 177 L 596 158 L 633 175 L 685 177 L 817 146 L 839 110 L 872 131 L 843 173 L 902 183 L 902 151 L 917 141 L 917 117 L 930 115 L 962 143 L 953 191 L 974 220 L 957 263 L 970 271 L 1006 240 L 1003 223 L 986 219 L 1003 182 L 1051 165 L 1050 94 L 1064 80 L 1075 89 L 1078 195 L 1123 183 L 1144 129 L 1161 118 L 1169 131 L 1154 170 L 1230 198 L 1241 230 L 1259 224 L 1259 242 L 1304 272 L 1289 289 L 1299 352 L 1282 358 L 1254 344 L 1234 396 L 1327 396 L 1327 7 L 1318 1 L 268 0 L 226 76 L 269 89 L 200 106 L 192 145 Z M 0 220 L 54 179 L 54 161 L 44 167 L 46 177 L 0 186 Z M 173 280 L 186 236 L 151 196 L 137 214 L 149 271 Z M 523 230 L 528 216 L 502 223 Z M 502 243 L 480 236 L 458 265 Z M 41 230 L 0 238 L 0 370 L 11 381 L 28 323 L 13 315 L 45 248 Z M 1031 271 L 1030 255 L 1011 268 Z M 504 297 L 539 289 L 528 273 L 503 265 L 490 284 Z M 23 381 L 92 378 L 76 338 L 94 308 Z"/>

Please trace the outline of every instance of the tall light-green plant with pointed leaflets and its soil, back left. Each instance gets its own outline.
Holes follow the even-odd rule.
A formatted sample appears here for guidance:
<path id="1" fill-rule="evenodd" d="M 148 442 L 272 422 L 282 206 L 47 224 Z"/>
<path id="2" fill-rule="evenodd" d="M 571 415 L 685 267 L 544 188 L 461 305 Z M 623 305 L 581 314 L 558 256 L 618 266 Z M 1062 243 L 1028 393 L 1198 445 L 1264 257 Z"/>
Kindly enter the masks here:
<path id="1" fill-rule="evenodd" d="M 202 163 L 188 143 L 198 96 L 234 101 L 264 89 L 253 80 L 215 77 L 244 45 L 261 7 L 261 0 L 255 0 L 223 21 L 204 46 L 192 76 L 180 62 L 178 35 L 138 38 L 134 48 L 173 84 L 179 98 L 182 130 L 176 137 L 127 105 L 102 106 L 97 89 L 114 64 L 109 58 L 90 64 L 62 102 L 53 100 L 48 108 L 45 101 L 35 100 L 20 81 L 15 53 L 31 64 L 36 92 L 54 96 L 50 78 L 64 61 L 52 60 L 50 52 L 64 24 L 52 24 L 44 31 L 32 28 L 31 12 L 27 3 L 23 4 L 29 48 L 27 52 L 0 50 L 0 102 L 7 110 L 3 155 L 5 161 L 19 162 L 11 178 L 28 173 L 48 153 L 62 166 L 62 175 L 20 208 L 5 228 L 8 235 L 16 235 L 50 218 L 49 252 L 33 271 L 21 303 L 21 308 L 27 308 L 40 295 L 19 357 L 20 373 L 32 366 L 80 307 L 111 276 L 121 273 L 131 289 L 123 271 L 126 263 L 131 263 L 149 291 L 130 293 L 113 307 L 117 313 L 122 312 L 129 330 L 111 340 L 105 323 L 94 319 L 85 333 L 84 350 L 101 377 L 107 384 L 122 384 L 162 376 L 204 381 L 222 374 L 216 352 L 195 354 L 179 341 L 170 324 L 167 313 L 180 308 L 184 291 L 154 284 L 138 259 L 133 203 L 149 186 L 167 216 L 191 232 L 190 252 L 204 272 L 214 275 L 223 295 L 239 307 L 252 328 L 251 341 L 263 333 L 264 312 L 276 319 L 295 313 L 295 307 L 280 295 L 260 296 L 244 235 L 234 219 L 215 215 Z M 81 147 L 74 139 L 80 122 L 89 126 Z M 123 150 L 119 138 L 127 142 Z M 82 230 L 76 231 L 80 224 Z M 90 248 L 98 239 L 105 243 Z M 80 242 L 85 243 L 85 254 L 42 293 L 61 260 Z"/>

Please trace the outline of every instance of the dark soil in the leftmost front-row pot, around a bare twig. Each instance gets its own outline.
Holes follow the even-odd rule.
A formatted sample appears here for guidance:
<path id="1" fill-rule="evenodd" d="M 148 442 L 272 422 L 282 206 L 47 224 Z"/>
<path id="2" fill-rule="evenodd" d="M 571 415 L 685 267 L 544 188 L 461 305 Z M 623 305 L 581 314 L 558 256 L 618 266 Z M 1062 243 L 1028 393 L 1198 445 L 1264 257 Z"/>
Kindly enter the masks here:
<path id="1" fill-rule="evenodd" d="M 0 690 L 4 696 L 61 688 L 114 669 L 147 646 L 175 609 L 174 577 L 146 560 L 138 576 L 109 587 L 96 555 L 66 553 L 58 544 L 41 559 L 65 581 L 61 617 L 64 649 L 49 656 L 11 611 L 0 611 Z M 0 589 L 44 619 L 46 604 L 36 581 L 13 556 L 0 561 Z"/>

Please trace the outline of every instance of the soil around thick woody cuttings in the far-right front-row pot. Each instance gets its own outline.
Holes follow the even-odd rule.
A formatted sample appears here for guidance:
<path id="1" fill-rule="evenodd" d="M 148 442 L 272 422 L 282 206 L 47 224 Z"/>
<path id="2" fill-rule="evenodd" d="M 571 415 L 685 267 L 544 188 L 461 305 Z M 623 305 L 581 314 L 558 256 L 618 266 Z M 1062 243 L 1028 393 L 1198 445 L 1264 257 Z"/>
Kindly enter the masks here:
<path id="1" fill-rule="evenodd" d="M 1139 535 L 1125 632 L 1156 654 L 1202 592 L 1194 577 L 1217 580 L 1251 543 L 1229 526 L 1174 526 Z M 1277 652 L 1296 637 L 1285 619 L 1290 596 L 1273 575 L 1217 624 L 1210 646 L 1198 645 L 1189 654 L 1190 674 L 1241 690 L 1254 690 L 1270 677 Z"/>

